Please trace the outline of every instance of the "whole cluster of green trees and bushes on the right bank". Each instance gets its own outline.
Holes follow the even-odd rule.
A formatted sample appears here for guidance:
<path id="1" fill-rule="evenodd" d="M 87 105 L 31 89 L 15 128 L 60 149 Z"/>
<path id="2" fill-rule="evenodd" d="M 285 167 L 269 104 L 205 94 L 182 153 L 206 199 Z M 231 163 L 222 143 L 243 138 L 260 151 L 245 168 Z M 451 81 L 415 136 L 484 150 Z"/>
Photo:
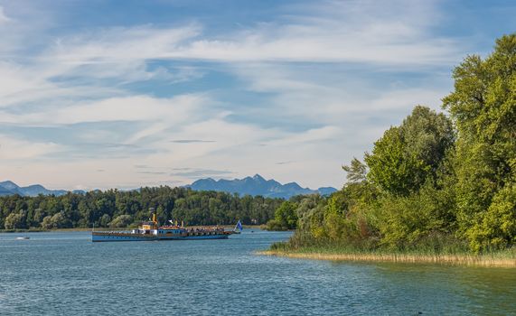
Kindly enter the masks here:
<path id="1" fill-rule="evenodd" d="M 466 57 L 453 79 L 447 115 L 414 107 L 371 153 L 342 167 L 341 191 L 291 205 L 298 229 L 286 246 L 476 253 L 514 246 L 516 34 L 498 39 L 484 59 Z"/>

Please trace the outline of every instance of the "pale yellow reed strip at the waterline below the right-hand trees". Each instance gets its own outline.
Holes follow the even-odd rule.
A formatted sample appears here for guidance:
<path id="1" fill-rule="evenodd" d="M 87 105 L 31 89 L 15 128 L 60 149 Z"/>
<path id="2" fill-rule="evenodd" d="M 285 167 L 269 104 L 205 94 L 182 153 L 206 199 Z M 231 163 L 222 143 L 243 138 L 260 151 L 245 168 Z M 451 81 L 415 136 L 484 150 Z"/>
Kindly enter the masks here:
<path id="1" fill-rule="evenodd" d="M 496 257 L 493 255 L 411 255 L 411 254 L 375 254 L 375 253 L 324 253 L 324 252 L 288 252 L 264 250 L 257 252 L 261 256 L 281 256 L 296 259 L 325 260 L 336 262 L 385 262 L 397 264 L 436 264 L 465 265 L 483 267 L 516 268 L 516 258 Z"/>

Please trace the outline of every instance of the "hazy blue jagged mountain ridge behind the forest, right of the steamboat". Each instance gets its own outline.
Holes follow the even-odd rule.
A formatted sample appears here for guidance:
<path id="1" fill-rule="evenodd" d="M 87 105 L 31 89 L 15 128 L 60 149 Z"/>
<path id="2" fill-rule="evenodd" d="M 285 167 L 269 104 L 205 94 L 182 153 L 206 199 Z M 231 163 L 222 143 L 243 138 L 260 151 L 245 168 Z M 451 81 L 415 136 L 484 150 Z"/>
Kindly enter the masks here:
<path id="1" fill-rule="evenodd" d="M 186 187 L 195 191 L 224 191 L 230 193 L 238 193 L 239 195 L 261 195 L 267 198 L 284 198 L 289 199 L 295 195 L 305 194 L 321 194 L 328 195 L 337 191 L 332 187 L 323 187 L 317 190 L 302 188 L 296 182 L 289 182 L 281 184 L 275 180 L 265 180 L 259 174 L 253 177 L 246 177 L 243 179 L 224 180 L 219 181 L 211 178 L 194 181 L 191 185 Z"/>

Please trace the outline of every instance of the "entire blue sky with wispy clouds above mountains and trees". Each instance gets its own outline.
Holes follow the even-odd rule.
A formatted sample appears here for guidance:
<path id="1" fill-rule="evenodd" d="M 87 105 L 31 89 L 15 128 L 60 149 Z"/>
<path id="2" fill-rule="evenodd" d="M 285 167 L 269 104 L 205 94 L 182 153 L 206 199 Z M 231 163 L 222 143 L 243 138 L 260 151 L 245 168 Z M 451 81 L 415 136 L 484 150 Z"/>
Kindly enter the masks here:
<path id="1" fill-rule="evenodd" d="M 345 181 L 513 1 L 0 0 L 0 181 Z"/>

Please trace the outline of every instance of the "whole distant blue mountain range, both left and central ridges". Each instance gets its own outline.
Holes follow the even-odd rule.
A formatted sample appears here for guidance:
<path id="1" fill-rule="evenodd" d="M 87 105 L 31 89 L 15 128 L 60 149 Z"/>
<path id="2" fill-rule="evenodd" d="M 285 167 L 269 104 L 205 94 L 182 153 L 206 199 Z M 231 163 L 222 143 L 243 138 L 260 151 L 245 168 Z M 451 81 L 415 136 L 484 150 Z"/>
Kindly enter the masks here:
<path id="1" fill-rule="evenodd" d="M 329 195 L 337 191 L 332 187 L 319 188 L 311 190 L 302 188 L 296 182 L 281 184 L 275 180 L 265 180 L 259 174 L 253 177 L 234 180 L 213 180 L 211 178 L 194 181 L 192 184 L 185 186 L 194 191 L 223 191 L 229 193 L 238 193 L 239 195 L 261 195 L 267 198 L 284 198 L 289 199 L 295 195 L 306 195 L 319 193 L 321 195 Z M 26 187 L 20 187 L 13 181 L 0 182 L 0 196 L 19 194 L 22 196 L 38 196 L 42 195 L 64 195 L 69 191 L 66 190 L 48 190 L 41 184 L 33 184 Z M 84 194 L 85 191 L 72 191 L 73 193 Z"/>

